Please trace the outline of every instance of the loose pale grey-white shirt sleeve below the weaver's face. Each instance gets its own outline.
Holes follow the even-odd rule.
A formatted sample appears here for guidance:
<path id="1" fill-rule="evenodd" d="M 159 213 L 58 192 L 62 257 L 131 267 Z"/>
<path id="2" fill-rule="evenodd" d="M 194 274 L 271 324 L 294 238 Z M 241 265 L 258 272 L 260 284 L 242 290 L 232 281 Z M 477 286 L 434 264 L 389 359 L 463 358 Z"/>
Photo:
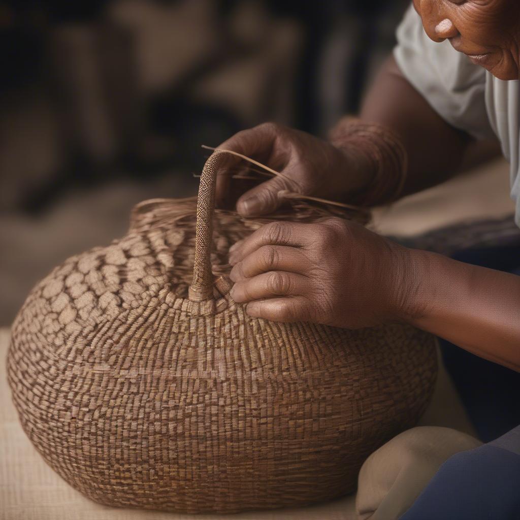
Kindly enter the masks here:
<path id="1" fill-rule="evenodd" d="M 447 123 L 477 139 L 496 138 L 486 110 L 486 71 L 447 40 L 430 40 L 413 6 L 397 28 L 394 57 L 406 79 Z"/>

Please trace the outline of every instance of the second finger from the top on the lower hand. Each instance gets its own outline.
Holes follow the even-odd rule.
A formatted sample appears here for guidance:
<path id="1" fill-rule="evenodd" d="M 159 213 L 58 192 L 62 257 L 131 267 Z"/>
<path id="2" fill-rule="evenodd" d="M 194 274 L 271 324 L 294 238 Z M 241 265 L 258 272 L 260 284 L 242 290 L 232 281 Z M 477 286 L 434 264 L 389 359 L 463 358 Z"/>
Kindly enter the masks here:
<path id="1" fill-rule="evenodd" d="M 309 267 L 310 261 L 301 249 L 263 245 L 236 264 L 229 277 L 233 282 L 238 282 L 267 271 L 297 272 L 303 275 Z"/>

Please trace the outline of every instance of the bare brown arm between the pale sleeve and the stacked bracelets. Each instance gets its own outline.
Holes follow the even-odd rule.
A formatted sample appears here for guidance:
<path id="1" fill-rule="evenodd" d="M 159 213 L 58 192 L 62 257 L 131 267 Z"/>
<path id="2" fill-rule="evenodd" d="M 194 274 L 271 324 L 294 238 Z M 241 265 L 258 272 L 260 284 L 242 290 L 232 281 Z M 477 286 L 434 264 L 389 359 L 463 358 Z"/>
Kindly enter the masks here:
<path id="1" fill-rule="evenodd" d="M 361 109 L 360 118 L 391 128 L 408 154 L 402 194 L 443 182 L 460 168 L 472 139 L 444 121 L 388 58 Z"/>

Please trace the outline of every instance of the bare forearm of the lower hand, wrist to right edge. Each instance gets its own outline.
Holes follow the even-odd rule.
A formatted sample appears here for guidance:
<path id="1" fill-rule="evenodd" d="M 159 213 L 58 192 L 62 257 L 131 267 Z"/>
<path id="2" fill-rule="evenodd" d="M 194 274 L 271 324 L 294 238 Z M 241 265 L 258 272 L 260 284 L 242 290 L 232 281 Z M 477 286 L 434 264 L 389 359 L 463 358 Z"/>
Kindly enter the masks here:
<path id="1" fill-rule="evenodd" d="M 520 276 L 424 251 L 410 258 L 405 276 L 413 284 L 401 317 L 520 371 Z"/>

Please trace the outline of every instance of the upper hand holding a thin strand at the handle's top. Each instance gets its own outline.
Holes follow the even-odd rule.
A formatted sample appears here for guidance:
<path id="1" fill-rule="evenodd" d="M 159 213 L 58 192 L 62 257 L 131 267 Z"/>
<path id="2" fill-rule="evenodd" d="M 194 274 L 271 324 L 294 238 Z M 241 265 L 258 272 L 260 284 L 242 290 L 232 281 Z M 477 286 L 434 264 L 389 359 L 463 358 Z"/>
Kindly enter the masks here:
<path id="1" fill-rule="evenodd" d="M 245 193 L 241 190 L 242 193 L 235 194 L 240 196 L 237 211 L 243 216 L 275 211 L 282 202 L 278 197 L 282 190 L 348 201 L 349 194 L 362 191 L 374 175 L 373 166 L 356 146 L 346 144 L 339 149 L 305 132 L 275 123 L 239 132 L 218 148 L 247 155 L 285 177 L 274 177 Z M 216 200 L 220 207 L 235 203 L 230 177 L 239 162 L 239 158 L 228 155 L 219 172 Z"/>

